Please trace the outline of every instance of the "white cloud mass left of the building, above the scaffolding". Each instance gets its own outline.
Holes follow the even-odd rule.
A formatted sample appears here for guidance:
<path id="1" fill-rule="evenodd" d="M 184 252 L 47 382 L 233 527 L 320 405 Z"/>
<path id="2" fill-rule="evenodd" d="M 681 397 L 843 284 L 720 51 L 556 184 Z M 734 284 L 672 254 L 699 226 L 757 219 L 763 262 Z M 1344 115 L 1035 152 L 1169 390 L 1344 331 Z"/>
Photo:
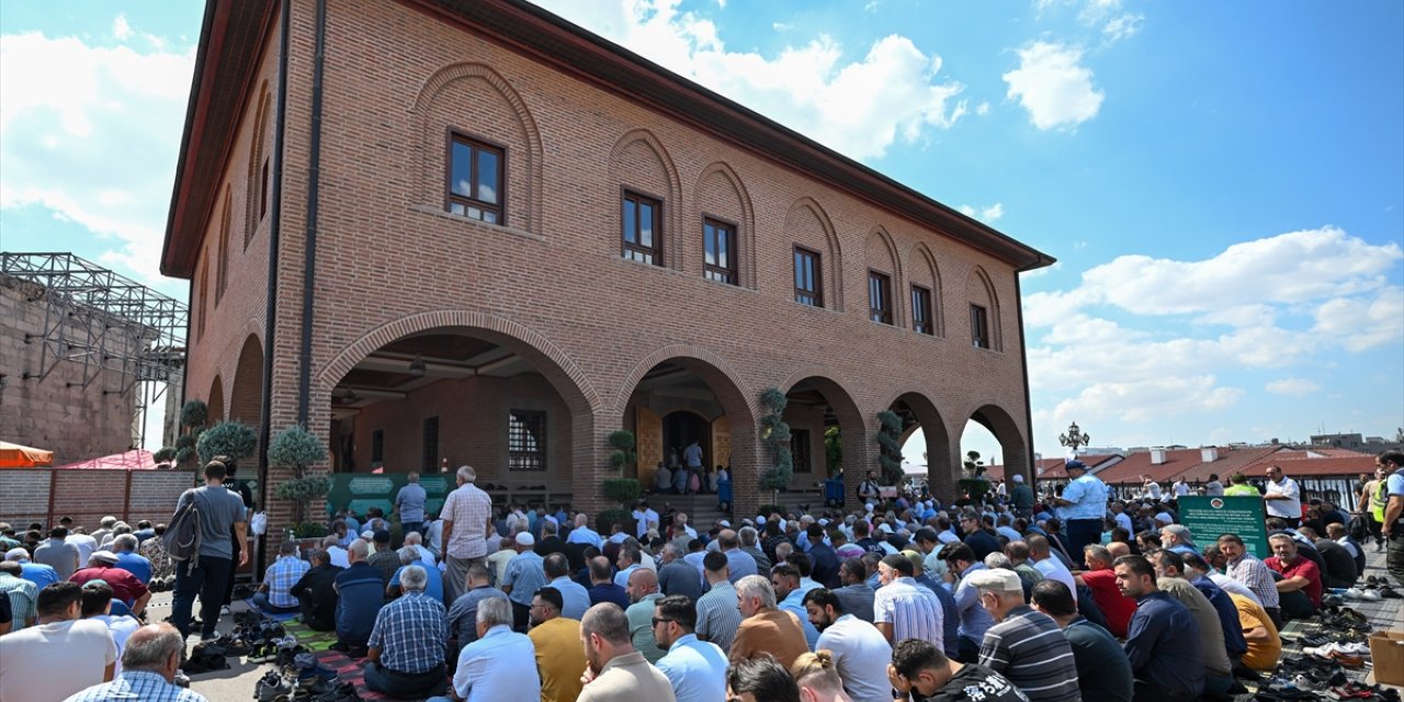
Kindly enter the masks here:
<path id="1" fill-rule="evenodd" d="M 156 281 L 192 67 L 194 52 L 0 37 L 0 208 L 115 237 L 100 258 Z"/>

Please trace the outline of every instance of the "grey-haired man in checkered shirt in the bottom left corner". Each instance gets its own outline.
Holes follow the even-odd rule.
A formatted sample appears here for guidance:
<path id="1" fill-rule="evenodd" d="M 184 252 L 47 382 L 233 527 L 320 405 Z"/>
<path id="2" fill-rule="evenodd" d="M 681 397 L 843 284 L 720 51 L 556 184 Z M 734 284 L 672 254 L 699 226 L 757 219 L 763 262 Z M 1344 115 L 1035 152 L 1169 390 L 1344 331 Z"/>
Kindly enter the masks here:
<path id="1" fill-rule="evenodd" d="M 204 695 L 174 684 L 184 647 L 185 640 L 174 626 L 142 626 L 126 639 L 122 673 L 117 678 L 93 685 L 65 702 L 208 702 Z"/>

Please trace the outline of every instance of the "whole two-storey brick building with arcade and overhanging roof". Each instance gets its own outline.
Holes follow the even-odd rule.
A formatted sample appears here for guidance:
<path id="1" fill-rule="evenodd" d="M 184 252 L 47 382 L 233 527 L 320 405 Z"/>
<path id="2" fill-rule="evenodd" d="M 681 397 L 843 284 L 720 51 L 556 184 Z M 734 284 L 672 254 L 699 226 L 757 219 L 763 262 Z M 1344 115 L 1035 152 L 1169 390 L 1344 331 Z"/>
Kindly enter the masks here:
<path id="1" fill-rule="evenodd" d="M 1049 263 L 515 0 L 211 0 L 161 260 L 213 416 L 587 510 L 619 428 L 626 475 L 698 441 L 765 501 L 767 388 L 796 484 L 830 425 L 876 465 L 887 409 L 938 490 L 972 418 L 1028 472 L 1018 271 Z"/>

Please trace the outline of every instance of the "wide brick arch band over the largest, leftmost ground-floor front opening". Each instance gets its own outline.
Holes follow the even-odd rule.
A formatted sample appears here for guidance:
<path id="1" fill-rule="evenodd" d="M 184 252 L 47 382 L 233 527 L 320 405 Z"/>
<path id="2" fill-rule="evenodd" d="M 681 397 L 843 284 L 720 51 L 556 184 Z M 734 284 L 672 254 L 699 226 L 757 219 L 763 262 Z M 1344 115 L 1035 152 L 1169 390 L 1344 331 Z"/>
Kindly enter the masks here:
<path id="1" fill-rule="evenodd" d="M 341 378 L 375 350 L 417 331 L 445 327 L 465 329 L 531 361 L 566 400 L 571 414 L 590 416 L 601 409 L 600 393 L 590 383 L 590 378 L 549 338 L 508 319 L 459 309 L 418 312 L 366 331 L 317 373 L 320 396 L 329 397 Z"/>

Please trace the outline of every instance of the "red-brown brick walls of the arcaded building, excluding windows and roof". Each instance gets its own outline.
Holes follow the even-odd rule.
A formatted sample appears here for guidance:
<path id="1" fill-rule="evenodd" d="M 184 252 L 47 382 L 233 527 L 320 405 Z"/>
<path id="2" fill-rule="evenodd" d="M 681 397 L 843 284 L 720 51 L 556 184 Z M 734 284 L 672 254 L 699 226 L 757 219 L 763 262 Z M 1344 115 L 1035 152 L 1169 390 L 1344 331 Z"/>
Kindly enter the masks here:
<path id="1" fill-rule="evenodd" d="M 312 13 L 310 4 L 293 6 L 277 333 L 268 351 L 275 431 L 298 420 Z M 277 45 L 277 37 L 268 41 Z M 270 84 L 274 66 L 270 52 L 260 70 Z M 323 100 L 313 431 L 327 431 L 330 392 L 365 354 L 409 333 L 458 326 L 538 362 L 571 414 L 570 480 L 590 510 L 602 504 L 598 483 L 611 475 L 605 437 L 623 425 L 637 379 L 670 358 L 691 359 L 733 417 L 743 508 L 757 501 L 757 396 L 806 375 L 830 378 L 852 395 L 835 402 L 856 407 L 844 428 L 849 470 L 875 463 L 875 414 L 908 392 L 939 411 L 952 441 L 946 455 L 931 461 L 952 476 L 960 431 L 977 407 L 1001 407 L 1015 418 L 1015 442 L 1026 441 L 1008 264 L 395 3 L 330 6 Z M 240 174 L 253 153 L 253 125 L 246 117 L 227 167 L 234 230 L 244 226 Z M 449 128 L 507 147 L 507 226 L 444 213 Z M 626 185 L 665 199 L 661 267 L 619 257 L 619 191 Z M 702 278 L 703 213 L 741 225 L 743 286 Z M 876 227 L 899 257 L 896 327 L 866 319 L 868 243 Z M 206 249 L 218 241 L 218 218 L 205 237 Z M 793 302 L 796 243 L 824 254 L 830 309 Z M 261 338 L 265 247 L 260 233 L 230 261 L 232 284 L 211 312 L 204 341 L 191 348 L 192 393 L 216 373 L 233 372 L 250 333 Z M 939 268 L 935 302 L 945 337 L 908 330 L 908 277 L 922 284 L 934 277 L 915 260 L 922 247 Z M 1000 351 L 970 347 L 970 295 L 983 288 L 974 282 L 977 268 L 998 296 Z M 448 439 L 449 432 L 441 434 Z M 410 435 L 418 437 L 417 427 Z M 368 441 L 361 446 L 365 455 Z M 417 459 L 417 449 L 410 458 Z M 484 462 L 484 479 L 498 477 L 490 468 L 500 462 Z M 281 475 L 275 470 L 274 482 Z M 288 514 L 286 505 L 274 505 L 272 519 Z"/>

